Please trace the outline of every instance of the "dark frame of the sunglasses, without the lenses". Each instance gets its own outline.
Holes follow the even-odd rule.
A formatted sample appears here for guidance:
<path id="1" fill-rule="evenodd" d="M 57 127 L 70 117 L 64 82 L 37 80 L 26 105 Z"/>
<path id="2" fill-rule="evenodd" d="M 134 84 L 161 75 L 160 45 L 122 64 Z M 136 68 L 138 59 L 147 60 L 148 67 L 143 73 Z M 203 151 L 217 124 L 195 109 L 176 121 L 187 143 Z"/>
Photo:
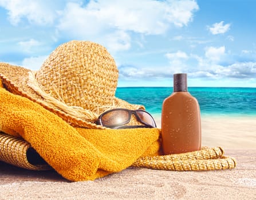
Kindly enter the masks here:
<path id="1" fill-rule="evenodd" d="M 122 122 L 122 123 L 119 123 L 117 125 L 112 125 L 112 126 L 105 126 L 102 122 L 102 117 L 105 115 L 105 114 L 108 114 L 108 113 L 111 113 L 112 111 L 116 111 L 116 110 L 124 110 L 124 111 L 127 111 L 128 112 L 128 120 L 125 121 L 125 122 Z M 140 111 L 140 112 L 143 112 L 143 113 L 147 113 L 151 118 L 152 118 L 152 121 L 154 123 L 155 126 L 152 126 L 152 125 L 149 125 L 148 123 L 142 121 L 142 119 L 139 117 L 139 115 L 136 113 L 137 111 Z M 132 114 L 135 115 L 137 121 L 139 121 L 140 123 L 144 124 L 143 125 L 135 125 L 135 126 L 123 126 L 127 123 L 129 123 L 131 121 L 131 118 L 132 118 Z M 108 127 L 108 128 L 111 128 L 111 129 L 131 129 L 131 128 L 156 128 L 156 122 L 155 122 L 155 119 L 153 119 L 152 115 L 150 113 L 148 113 L 147 111 L 145 110 L 129 110 L 129 109 L 112 109 L 112 110 L 108 110 L 108 111 L 105 111 L 103 114 L 101 114 L 99 116 L 99 118 L 97 119 L 96 123 L 98 125 L 101 125 L 101 126 L 105 126 L 105 127 Z"/>

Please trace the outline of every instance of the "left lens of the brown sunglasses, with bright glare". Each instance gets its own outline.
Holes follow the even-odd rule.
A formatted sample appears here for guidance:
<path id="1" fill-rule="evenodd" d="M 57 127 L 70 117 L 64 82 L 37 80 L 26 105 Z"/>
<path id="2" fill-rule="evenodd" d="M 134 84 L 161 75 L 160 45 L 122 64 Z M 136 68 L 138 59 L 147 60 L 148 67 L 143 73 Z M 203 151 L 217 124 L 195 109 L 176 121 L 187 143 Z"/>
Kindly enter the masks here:
<path id="1" fill-rule="evenodd" d="M 103 126 L 118 126 L 129 121 L 129 112 L 127 110 L 112 110 L 101 117 Z"/>

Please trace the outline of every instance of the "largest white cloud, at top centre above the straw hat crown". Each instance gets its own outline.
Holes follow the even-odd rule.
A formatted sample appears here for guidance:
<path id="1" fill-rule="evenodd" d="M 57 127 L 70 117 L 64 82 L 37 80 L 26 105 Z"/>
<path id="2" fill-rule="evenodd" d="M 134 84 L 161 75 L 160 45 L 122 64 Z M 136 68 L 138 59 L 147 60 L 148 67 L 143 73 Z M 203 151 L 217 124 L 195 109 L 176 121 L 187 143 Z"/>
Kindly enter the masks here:
<path id="1" fill-rule="evenodd" d="M 195 1 L 90 1 L 68 3 L 59 12 L 57 30 L 77 39 L 93 40 L 115 50 L 130 47 L 132 33 L 164 34 L 173 26 L 186 26 L 198 10 Z M 104 35 L 104 37 L 103 37 Z M 111 43 L 109 43 L 111 42 Z"/>

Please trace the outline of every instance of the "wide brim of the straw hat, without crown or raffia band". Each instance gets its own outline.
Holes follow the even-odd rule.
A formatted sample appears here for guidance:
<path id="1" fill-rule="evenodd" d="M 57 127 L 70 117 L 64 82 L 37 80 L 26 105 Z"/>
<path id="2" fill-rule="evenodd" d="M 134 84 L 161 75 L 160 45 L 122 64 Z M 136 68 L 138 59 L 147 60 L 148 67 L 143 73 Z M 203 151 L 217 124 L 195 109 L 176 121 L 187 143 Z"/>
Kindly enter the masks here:
<path id="1" fill-rule="evenodd" d="M 10 65 L 9 63 L 0 63 L 0 78 L 3 85 L 11 93 L 21 95 L 22 97 L 26 97 L 31 101 L 37 102 L 41 106 L 45 107 L 45 109 L 58 115 L 72 126 L 86 127 L 89 129 L 106 129 L 103 126 L 96 125 L 96 123 L 85 121 L 84 119 L 78 118 L 75 115 L 66 113 L 58 107 L 50 106 L 49 103 L 37 93 L 37 91 L 34 91 L 29 86 L 29 73 L 32 73 L 32 71 L 25 69 L 24 67 Z M 129 110 L 145 109 L 144 106 L 133 105 L 117 97 L 113 98 L 112 105 L 109 105 L 109 109 L 119 107 Z"/>

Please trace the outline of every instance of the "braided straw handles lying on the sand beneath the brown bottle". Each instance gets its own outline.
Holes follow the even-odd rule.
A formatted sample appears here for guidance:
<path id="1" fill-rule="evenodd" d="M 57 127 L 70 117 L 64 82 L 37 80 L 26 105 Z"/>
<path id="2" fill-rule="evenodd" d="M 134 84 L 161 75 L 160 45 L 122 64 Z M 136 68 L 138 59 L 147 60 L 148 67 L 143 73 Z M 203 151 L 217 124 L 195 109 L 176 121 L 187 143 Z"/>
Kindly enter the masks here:
<path id="1" fill-rule="evenodd" d="M 236 165 L 237 161 L 234 158 L 224 156 L 224 150 L 221 147 L 202 147 L 202 150 L 183 154 L 140 157 L 132 167 L 171 171 L 206 171 L 234 169 Z"/>

